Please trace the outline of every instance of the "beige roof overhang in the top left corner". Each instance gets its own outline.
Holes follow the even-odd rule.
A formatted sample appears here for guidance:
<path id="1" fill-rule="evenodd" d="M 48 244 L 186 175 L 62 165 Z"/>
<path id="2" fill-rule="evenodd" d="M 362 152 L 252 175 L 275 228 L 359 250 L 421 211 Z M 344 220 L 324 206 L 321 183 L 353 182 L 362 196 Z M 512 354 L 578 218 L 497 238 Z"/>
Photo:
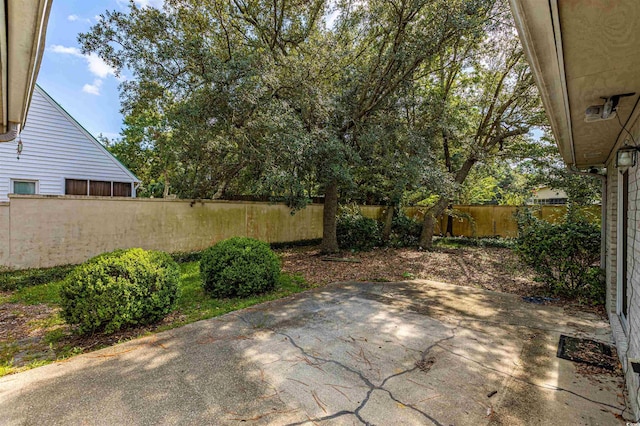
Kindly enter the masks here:
<path id="1" fill-rule="evenodd" d="M 51 0 L 0 0 L 0 141 L 25 124 L 50 9 Z"/>

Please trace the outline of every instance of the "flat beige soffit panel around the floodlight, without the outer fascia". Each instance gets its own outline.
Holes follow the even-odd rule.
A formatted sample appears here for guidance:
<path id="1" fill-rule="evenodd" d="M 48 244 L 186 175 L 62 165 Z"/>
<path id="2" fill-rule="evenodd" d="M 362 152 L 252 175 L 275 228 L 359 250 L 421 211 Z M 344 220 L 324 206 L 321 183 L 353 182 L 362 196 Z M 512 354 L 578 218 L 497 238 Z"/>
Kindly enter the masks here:
<path id="1" fill-rule="evenodd" d="M 640 1 L 559 0 L 558 11 L 575 163 L 605 164 L 618 142 L 620 122 L 587 123 L 585 110 L 603 104 L 602 97 L 636 92 L 618 105 L 623 124 L 629 121 L 630 127 L 635 121 L 631 115 L 640 95 Z"/>

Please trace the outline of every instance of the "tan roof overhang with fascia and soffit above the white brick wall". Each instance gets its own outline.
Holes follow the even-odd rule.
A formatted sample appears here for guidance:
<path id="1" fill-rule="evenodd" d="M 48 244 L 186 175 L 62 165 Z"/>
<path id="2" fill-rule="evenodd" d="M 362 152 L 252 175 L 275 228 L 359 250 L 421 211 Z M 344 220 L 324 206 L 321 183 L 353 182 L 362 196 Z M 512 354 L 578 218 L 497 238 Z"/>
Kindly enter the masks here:
<path id="1" fill-rule="evenodd" d="M 510 0 L 565 163 L 606 165 L 640 108 L 640 1 Z M 613 119 L 586 122 L 591 105 L 623 97 Z M 622 124 L 622 125 L 621 125 Z"/>

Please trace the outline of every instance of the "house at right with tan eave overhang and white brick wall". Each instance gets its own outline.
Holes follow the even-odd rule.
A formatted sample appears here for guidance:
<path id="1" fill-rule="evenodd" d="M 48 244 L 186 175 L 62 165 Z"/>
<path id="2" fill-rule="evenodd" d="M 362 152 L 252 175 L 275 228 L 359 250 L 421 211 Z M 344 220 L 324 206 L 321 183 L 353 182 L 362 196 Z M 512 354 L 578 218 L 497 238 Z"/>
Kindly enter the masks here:
<path id="1" fill-rule="evenodd" d="M 510 2 L 565 163 L 604 170 L 606 308 L 638 419 L 640 1 Z"/>

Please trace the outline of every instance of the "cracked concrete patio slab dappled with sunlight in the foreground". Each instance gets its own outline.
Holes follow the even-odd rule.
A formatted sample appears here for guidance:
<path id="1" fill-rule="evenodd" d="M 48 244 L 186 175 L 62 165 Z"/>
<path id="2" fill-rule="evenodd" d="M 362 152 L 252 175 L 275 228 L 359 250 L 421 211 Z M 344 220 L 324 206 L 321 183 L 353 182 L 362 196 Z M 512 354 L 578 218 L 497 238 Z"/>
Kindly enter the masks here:
<path id="1" fill-rule="evenodd" d="M 0 379 L 0 424 L 621 422 L 622 379 L 556 358 L 593 315 L 429 281 L 343 283 Z"/>

